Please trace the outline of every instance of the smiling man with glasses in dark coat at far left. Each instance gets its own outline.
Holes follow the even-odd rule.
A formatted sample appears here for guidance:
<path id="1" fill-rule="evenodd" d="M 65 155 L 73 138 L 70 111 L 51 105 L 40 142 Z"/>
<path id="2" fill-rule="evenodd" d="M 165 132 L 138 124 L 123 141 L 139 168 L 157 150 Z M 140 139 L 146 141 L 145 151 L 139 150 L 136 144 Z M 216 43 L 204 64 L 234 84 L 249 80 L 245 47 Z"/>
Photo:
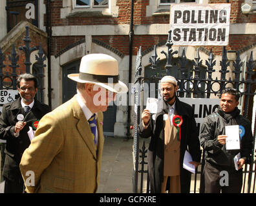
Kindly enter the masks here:
<path id="1" fill-rule="evenodd" d="M 4 104 L 0 117 L 0 138 L 6 140 L 3 178 L 5 193 L 23 192 L 24 183 L 19 170 L 21 156 L 30 145 L 28 130 L 36 130 L 39 120 L 50 111 L 46 104 L 34 99 L 37 92 L 37 79 L 25 73 L 17 79 L 20 97 Z"/>

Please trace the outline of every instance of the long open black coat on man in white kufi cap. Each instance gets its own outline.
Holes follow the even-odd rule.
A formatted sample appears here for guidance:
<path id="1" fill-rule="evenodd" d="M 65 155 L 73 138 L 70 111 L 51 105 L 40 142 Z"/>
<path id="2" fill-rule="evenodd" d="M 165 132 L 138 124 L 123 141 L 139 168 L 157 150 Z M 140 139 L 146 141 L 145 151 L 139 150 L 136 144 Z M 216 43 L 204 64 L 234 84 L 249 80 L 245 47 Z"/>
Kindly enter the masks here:
<path id="1" fill-rule="evenodd" d="M 149 180 L 152 193 L 160 193 L 164 179 L 164 120 L 163 115 L 168 114 L 167 105 L 164 100 L 160 100 L 159 105 L 163 105 L 162 111 L 156 113 L 155 120 L 152 115 L 149 126 L 144 129 L 142 122 L 139 127 L 139 135 L 142 138 L 151 137 L 148 152 Z M 193 161 L 200 162 L 201 150 L 198 139 L 198 129 L 195 122 L 194 111 L 189 104 L 180 102 L 176 98 L 175 111 L 183 119 L 181 126 L 180 141 L 180 189 L 181 192 L 189 192 L 191 173 L 183 169 L 183 159 L 186 149 L 191 154 Z"/>

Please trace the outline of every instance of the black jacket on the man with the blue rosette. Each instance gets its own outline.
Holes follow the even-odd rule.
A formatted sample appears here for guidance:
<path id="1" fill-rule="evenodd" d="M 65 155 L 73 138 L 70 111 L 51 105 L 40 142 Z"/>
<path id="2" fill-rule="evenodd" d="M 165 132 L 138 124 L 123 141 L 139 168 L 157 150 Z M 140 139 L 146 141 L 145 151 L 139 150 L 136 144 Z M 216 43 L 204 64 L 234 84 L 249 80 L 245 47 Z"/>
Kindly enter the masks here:
<path id="1" fill-rule="evenodd" d="M 253 135 L 250 121 L 239 115 L 239 109 L 231 119 L 226 118 L 225 113 L 219 108 L 208 117 L 200 129 L 200 144 L 204 149 L 205 160 L 211 165 L 220 166 L 225 169 L 235 169 L 233 158 L 240 152 L 241 158 L 248 162 L 251 158 L 253 148 Z M 233 120 L 232 120 L 233 119 Z M 245 134 L 240 140 L 240 149 L 226 150 L 226 145 L 222 145 L 217 140 L 218 135 L 225 135 L 225 126 L 240 125 L 245 129 Z"/>

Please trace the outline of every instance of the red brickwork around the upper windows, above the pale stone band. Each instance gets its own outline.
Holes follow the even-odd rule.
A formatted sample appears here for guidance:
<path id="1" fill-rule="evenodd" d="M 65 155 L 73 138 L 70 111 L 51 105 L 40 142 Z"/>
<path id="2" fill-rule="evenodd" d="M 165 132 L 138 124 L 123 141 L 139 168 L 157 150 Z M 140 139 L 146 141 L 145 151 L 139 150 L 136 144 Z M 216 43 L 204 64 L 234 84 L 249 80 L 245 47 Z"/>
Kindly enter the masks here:
<path id="1" fill-rule="evenodd" d="M 209 0 L 209 3 L 226 3 L 226 0 Z M 241 5 L 244 0 L 230 0 L 231 3 L 231 23 L 255 23 L 256 14 L 244 15 L 241 12 Z M 146 17 L 146 6 L 149 0 L 134 1 L 134 24 L 168 24 L 169 15 L 160 15 Z M 131 1 L 117 0 L 116 6 L 119 6 L 118 17 L 74 17 L 60 19 L 63 7 L 62 0 L 56 0 L 51 3 L 52 6 L 52 26 L 63 25 L 98 25 L 98 24 L 129 24 L 131 17 Z"/>

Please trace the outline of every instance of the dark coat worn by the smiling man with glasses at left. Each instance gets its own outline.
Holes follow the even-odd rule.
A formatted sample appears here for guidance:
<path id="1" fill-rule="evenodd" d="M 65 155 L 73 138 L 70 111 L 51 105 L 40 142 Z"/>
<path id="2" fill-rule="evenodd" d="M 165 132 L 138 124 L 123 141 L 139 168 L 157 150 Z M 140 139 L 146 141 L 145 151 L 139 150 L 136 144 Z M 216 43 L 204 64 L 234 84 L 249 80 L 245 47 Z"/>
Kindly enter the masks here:
<path id="1" fill-rule="evenodd" d="M 3 176 L 8 180 L 23 182 L 19 163 L 21 162 L 23 152 L 30 145 L 30 139 L 27 134 L 29 126 L 32 127 L 36 120 L 40 120 L 49 111 L 50 108 L 46 104 L 41 104 L 35 100 L 33 108 L 26 115 L 21 106 L 21 97 L 3 106 L 0 117 L 0 137 L 6 140 Z M 27 124 L 19 131 L 19 136 L 15 137 L 14 127 L 16 122 L 19 121 L 17 120 L 17 115 L 19 114 L 25 117 L 23 121 L 27 122 Z"/>

